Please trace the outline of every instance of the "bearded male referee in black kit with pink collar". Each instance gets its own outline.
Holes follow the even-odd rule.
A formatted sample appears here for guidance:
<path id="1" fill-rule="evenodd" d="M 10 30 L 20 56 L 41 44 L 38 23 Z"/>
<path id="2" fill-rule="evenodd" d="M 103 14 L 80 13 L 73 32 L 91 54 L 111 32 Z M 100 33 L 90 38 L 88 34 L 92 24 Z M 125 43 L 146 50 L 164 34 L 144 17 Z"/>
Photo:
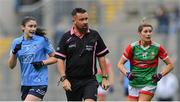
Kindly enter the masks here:
<path id="1" fill-rule="evenodd" d="M 73 26 L 61 38 L 55 54 L 60 81 L 68 101 L 96 101 L 96 57 L 103 74 L 102 87 L 107 89 L 109 81 L 105 55 L 109 51 L 99 33 L 88 27 L 85 9 L 75 8 L 72 19 Z"/>

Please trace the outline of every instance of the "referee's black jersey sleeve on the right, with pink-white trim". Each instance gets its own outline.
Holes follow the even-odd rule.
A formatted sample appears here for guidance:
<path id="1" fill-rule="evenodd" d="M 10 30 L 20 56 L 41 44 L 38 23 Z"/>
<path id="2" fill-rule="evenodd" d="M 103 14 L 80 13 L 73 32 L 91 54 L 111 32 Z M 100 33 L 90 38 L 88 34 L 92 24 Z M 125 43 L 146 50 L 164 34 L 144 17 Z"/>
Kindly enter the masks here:
<path id="1" fill-rule="evenodd" d="M 96 46 L 96 56 L 102 57 L 109 53 L 108 48 L 104 44 L 104 41 L 102 40 L 99 33 L 97 33 L 97 46 Z"/>

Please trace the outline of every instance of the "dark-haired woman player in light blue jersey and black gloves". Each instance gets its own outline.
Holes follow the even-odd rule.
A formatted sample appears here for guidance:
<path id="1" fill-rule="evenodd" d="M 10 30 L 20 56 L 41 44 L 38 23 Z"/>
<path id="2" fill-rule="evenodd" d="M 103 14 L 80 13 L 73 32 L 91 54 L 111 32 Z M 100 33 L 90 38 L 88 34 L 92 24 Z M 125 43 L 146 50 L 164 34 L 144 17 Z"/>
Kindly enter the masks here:
<path id="1" fill-rule="evenodd" d="M 35 18 L 25 17 L 21 28 L 23 35 L 13 40 L 8 65 L 13 69 L 18 58 L 21 66 L 21 99 L 41 101 L 48 87 L 47 65 L 56 63 L 53 57 L 55 51 L 44 36 L 44 30 L 37 29 Z"/>

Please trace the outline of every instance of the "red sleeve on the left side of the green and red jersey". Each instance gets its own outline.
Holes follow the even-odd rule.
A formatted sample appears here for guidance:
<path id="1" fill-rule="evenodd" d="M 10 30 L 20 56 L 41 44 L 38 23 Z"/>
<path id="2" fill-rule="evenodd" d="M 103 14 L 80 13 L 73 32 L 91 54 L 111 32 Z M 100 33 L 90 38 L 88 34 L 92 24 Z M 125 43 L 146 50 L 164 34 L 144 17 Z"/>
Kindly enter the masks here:
<path id="1" fill-rule="evenodd" d="M 124 52 L 123 52 L 123 57 L 125 58 L 125 59 L 132 59 L 132 46 L 131 45 L 128 45 L 126 48 L 125 48 L 125 50 L 124 50 Z"/>

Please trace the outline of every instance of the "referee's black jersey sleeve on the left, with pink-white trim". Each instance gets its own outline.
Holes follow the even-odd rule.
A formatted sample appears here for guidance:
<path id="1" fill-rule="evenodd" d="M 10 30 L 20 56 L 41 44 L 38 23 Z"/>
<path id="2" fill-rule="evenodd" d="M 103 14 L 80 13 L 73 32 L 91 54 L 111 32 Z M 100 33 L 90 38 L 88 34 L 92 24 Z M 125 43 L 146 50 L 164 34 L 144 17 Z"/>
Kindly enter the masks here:
<path id="1" fill-rule="evenodd" d="M 70 39 L 70 38 L 69 38 Z M 68 40 L 68 39 L 67 39 Z M 65 60 L 66 59 L 66 37 L 65 34 L 62 36 L 55 52 L 55 57 L 58 59 Z"/>

